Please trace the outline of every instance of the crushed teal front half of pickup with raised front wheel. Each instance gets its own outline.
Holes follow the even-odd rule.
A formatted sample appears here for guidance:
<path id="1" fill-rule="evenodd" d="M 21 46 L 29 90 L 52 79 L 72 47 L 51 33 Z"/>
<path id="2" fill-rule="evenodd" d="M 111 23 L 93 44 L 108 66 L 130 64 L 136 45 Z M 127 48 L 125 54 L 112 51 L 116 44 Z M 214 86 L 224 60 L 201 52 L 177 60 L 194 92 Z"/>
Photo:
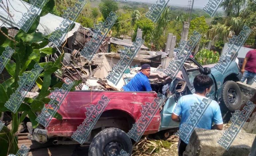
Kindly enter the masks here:
<path id="1" fill-rule="evenodd" d="M 213 68 L 215 64 L 201 66 L 191 57 L 188 58 L 188 61 L 193 62 L 196 67 L 186 69 L 186 67 L 183 66 L 181 70 L 182 79 L 176 77 L 171 82 L 168 100 L 161 111 L 160 130 L 178 126 L 177 122 L 172 121 L 171 114 L 174 111 L 179 97 L 194 92 L 193 80 L 198 74 L 206 74 L 212 78 L 214 84 L 212 86 L 211 94 L 214 95 L 214 100 L 219 102 L 223 116 L 226 115 L 226 111 L 239 110 L 242 104 L 242 93 L 236 83 L 237 81 L 240 81 L 242 74 L 235 61 L 231 62 L 224 75 Z M 154 83 L 151 85 L 154 85 Z"/>

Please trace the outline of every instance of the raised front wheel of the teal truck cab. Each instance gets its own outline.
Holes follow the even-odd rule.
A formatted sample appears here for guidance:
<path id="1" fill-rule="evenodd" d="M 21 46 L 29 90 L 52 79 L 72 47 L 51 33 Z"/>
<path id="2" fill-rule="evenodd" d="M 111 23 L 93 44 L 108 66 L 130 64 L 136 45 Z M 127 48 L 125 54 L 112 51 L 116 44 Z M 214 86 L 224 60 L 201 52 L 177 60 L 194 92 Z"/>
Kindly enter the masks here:
<path id="1" fill-rule="evenodd" d="M 226 81 L 222 86 L 221 98 L 230 111 L 239 110 L 242 104 L 242 93 L 234 81 Z"/>

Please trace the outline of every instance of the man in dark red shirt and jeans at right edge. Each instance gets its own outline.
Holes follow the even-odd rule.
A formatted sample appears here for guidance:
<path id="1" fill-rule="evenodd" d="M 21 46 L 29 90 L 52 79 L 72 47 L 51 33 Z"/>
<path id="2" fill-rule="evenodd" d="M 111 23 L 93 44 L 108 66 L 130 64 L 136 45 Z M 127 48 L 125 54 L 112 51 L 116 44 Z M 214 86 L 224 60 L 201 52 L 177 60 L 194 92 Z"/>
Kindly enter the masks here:
<path id="1" fill-rule="evenodd" d="M 256 82 L 256 49 L 247 52 L 241 69 L 243 77 L 241 82 L 247 79 L 246 84 L 252 85 Z"/>

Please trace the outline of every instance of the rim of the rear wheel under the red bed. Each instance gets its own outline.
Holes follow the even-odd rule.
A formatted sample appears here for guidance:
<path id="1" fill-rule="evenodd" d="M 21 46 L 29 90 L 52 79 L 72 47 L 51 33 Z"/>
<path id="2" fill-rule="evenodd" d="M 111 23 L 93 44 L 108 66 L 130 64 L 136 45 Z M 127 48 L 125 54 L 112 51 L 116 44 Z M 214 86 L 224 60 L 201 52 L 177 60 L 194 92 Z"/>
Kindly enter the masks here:
<path id="1" fill-rule="evenodd" d="M 122 149 L 123 146 L 121 143 L 118 141 L 112 141 L 105 146 L 102 154 L 103 156 L 118 156 Z"/>

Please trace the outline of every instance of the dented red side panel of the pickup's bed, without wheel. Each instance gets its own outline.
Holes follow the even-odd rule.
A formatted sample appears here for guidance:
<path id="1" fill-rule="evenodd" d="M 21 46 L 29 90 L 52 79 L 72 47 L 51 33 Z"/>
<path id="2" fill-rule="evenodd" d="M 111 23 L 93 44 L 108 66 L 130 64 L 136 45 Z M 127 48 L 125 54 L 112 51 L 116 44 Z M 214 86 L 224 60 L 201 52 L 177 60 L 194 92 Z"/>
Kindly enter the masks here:
<path id="1" fill-rule="evenodd" d="M 121 91 L 74 91 L 69 92 L 60 106 L 58 113 L 63 119 L 53 118 L 47 129 L 48 137 L 70 137 L 77 126 L 86 118 L 86 107 L 96 105 L 101 96 L 105 95 L 111 100 L 106 106 L 108 110 L 118 110 L 130 115 L 134 121 L 141 116 L 140 110 L 146 102 L 153 102 L 157 98 L 156 92 L 121 92 Z M 97 124 L 97 123 L 96 123 Z M 127 123 L 128 124 L 128 123 Z M 95 125 L 96 126 L 96 125 Z M 95 127 L 94 126 L 94 127 Z M 160 112 L 157 112 L 150 122 L 144 135 L 156 133 L 160 126 Z"/>

